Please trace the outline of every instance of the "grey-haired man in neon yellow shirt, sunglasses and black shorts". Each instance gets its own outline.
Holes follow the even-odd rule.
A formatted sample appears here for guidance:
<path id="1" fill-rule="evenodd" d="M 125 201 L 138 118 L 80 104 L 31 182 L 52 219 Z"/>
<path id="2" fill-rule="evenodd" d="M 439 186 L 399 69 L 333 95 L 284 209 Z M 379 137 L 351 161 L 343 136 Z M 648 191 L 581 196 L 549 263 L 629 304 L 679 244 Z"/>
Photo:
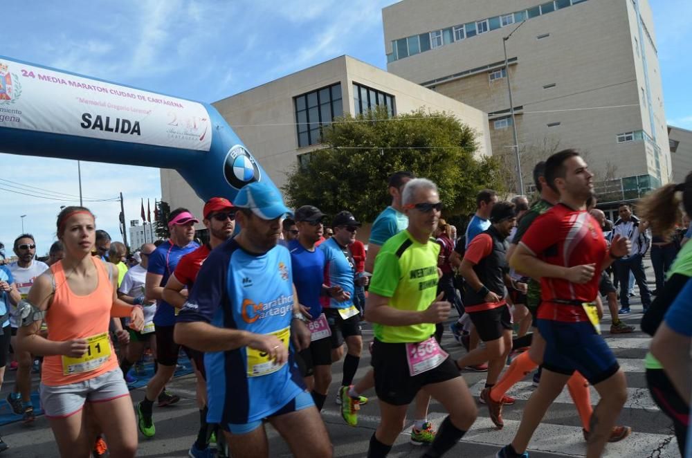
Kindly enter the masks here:
<path id="1" fill-rule="evenodd" d="M 372 366 L 381 423 L 370 438 L 369 458 L 388 455 L 406 419 L 408 404 L 422 389 L 449 412 L 424 457 L 453 448 L 476 417 L 476 407 L 453 360 L 435 340 L 435 324 L 451 304 L 435 298 L 439 245 L 430 240 L 442 209 L 437 186 L 425 178 L 403 190 L 408 228 L 390 238 L 376 258 L 366 319 L 373 324 Z"/>

